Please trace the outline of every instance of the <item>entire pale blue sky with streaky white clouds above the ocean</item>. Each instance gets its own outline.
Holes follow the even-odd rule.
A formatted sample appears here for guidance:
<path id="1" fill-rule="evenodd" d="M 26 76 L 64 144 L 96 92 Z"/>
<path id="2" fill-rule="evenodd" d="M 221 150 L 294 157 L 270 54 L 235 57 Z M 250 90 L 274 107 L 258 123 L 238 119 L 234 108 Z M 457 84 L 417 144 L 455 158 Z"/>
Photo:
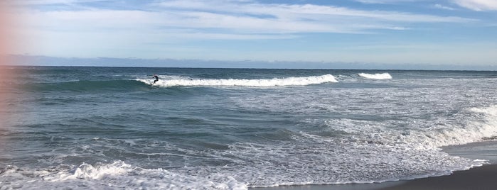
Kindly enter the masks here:
<path id="1" fill-rule="evenodd" d="M 14 55 L 497 67 L 497 0 L 17 0 L 11 6 L 12 17 L 22 20 L 11 26 L 20 39 Z"/>

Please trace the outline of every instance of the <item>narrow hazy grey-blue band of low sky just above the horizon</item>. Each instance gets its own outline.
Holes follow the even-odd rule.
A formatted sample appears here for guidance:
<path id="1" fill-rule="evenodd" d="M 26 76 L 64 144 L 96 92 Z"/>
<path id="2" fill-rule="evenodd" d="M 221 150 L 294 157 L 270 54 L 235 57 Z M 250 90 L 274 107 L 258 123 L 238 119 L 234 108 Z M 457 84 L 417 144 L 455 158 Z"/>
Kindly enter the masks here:
<path id="1" fill-rule="evenodd" d="M 428 63 L 325 62 L 284 60 L 199 60 L 138 57 L 53 57 L 46 55 L 7 55 L 15 63 L 11 66 L 33 67 L 152 67 L 203 69 L 365 69 L 365 70 L 442 70 L 497 71 L 497 65 L 449 65 Z M 105 60 L 107 62 L 87 62 Z M 142 61 L 141 63 L 136 62 Z M 71 62 L 68 62 L 71 61 Z M 169 62 L 168 62 L 169 61 Z M 146 62 L 146 63 L 144 63 Z M 207 64 L 209 63 L 209 64 Z M 474 68 L 474 69 L 473 69 Z"/>

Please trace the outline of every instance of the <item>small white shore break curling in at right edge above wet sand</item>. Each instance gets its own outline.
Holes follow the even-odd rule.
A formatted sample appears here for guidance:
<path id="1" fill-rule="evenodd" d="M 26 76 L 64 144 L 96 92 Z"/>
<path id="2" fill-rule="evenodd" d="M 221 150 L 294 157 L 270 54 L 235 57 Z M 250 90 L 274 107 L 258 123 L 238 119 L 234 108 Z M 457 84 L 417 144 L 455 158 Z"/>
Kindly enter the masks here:
<path id="1" fill-rule="evenodd" d="M 461 122 L 419 123 L 421 121 L 362 121 L 341 118 L 326 121 L 334 130 L 381 143 L 384 145 L 410 145 L 418 150 L 437 150 L 448 145 L 474 143 L 497 135 L 497 106 L 469 108 Z M 390 125 L 413 125 L 409 130 L 390 128 Z M 416 125 L 429 125 L 419 128 Z"/>

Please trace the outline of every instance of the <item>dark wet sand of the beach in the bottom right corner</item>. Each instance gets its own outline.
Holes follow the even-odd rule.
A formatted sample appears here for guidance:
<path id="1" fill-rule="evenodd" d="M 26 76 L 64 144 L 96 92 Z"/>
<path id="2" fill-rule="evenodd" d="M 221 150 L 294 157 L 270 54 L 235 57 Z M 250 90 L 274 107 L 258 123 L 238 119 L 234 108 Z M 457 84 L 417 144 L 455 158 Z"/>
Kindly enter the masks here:
<path id="1" fill-rule="evenodd" d="M 469 159 L 485 159 L 489 164 L 452 172 L 449 175 L 385 181 L 372 184 L 302 185 L 250 188 L 255 190 L 472 190 L 496 189 L 497 141 L 483 141 L 465 145 L 442 147 L 449 155 Z"/>

